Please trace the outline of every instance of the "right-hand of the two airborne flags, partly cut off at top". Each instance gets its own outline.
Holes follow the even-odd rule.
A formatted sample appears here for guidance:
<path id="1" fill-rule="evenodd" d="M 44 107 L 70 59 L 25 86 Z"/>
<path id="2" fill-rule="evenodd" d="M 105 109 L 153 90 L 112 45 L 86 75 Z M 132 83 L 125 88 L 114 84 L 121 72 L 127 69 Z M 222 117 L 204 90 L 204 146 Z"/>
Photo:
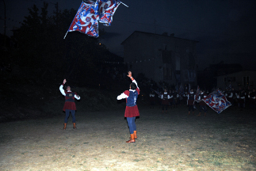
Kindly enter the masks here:
<path id="1" fill-rule="evenodd" d="M 110 26 L 113 21 L 113 15 L 120 3 L 119 0 L 101 0 L 99 2 L 99 22 L 105 26 Z"/>

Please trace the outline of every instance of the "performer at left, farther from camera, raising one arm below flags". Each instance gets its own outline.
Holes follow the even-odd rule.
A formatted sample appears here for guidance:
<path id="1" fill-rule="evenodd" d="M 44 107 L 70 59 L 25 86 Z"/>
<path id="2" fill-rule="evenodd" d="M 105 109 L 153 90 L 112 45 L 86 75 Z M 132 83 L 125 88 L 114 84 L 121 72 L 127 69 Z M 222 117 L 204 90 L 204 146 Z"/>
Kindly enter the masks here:
<path id="1" fill-rule="evenodd" d="M 66 130 L 66 128 L 67 128 L 67 119 L 69 117 L 70 112 L 71 112 L 71 116 L 72 116 L 73 128 L 76 129 L 76 127 L 75 127 L 75 110 L 76 110 L 75 98 L 77 100 L 80 100 L 80 97 L 78 96 L 78 94 L 76 92 L 71 92 L 71 86 L 67 86 L 67 90 L 63 89 L 63 86 L 65 85 L 66 82 L 67 82 L 66 79 L 64 79 L 63 84 L 59 86 L 60 93 L 62 93 L 63 96 L 65 96 L 65 104 L 63 107 L 63 111 L 66 112 L 66 117 L 64 120 L 63 130 Z"/>

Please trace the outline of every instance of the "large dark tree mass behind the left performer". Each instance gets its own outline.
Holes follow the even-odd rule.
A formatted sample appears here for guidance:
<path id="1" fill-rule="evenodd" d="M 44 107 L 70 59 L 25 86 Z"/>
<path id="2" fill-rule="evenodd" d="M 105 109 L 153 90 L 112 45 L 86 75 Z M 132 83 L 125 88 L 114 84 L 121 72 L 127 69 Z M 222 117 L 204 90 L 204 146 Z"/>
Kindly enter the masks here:
<path id="1" fill-rule="evenodd" d="M 21 65 L 33 74 L 52 70 L 52 77 L 95 78 L 97 63 L 108 53 L 98 38 L 81 32 L 69 32 L 63 40 L 75 14 L 75 9 L 64 9 L 48 16 L 48 3 L 44 2 L 41 10 L 32 6 L 14 36 L 19 44 L 17 56 Z"/>

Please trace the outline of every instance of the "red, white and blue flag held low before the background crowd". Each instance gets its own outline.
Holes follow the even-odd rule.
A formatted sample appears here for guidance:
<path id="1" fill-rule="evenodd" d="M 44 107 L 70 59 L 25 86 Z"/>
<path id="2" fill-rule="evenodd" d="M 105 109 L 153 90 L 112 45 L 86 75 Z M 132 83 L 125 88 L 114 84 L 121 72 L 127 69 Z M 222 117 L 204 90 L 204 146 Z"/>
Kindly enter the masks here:
<path id="1" fill-rule="evenodd" d="M 203 101 L 218 114 L 231 106 L 231 103 L 227 101 L 227 98 L 220 92 L 220 89 L 216 89 L 212 93 L 209 93 Z"/>

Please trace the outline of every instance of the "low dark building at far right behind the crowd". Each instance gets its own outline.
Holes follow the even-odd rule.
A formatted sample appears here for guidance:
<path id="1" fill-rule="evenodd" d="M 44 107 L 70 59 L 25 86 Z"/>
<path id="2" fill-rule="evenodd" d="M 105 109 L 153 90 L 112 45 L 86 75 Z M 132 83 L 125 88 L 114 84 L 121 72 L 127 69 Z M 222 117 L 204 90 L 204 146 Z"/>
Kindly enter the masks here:
<path id="1" fill-rule="evenodd" d="M 256 83 L 256 71 L 243 70 L 232 74 L 224 74 L 217 77 L 217 87 L 225 89 L 228 86 L 232 86 L 235 89 L 242 87 L 247 89 L 255 87 Z"/>

